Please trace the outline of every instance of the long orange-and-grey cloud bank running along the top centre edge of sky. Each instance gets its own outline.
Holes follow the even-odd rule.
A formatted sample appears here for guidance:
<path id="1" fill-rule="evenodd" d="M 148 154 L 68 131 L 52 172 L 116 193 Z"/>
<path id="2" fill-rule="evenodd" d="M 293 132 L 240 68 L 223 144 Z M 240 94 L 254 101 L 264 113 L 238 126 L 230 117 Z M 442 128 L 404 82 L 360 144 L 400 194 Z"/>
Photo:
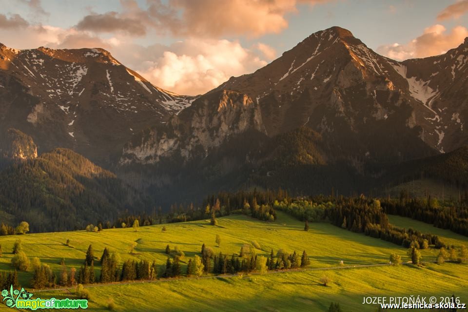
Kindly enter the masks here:
<path id="1" fill-rule="evenodd" d="M 286 16 L 297 12 L 299 4 L 314 5 L 330 0 L 149 0 L 148 9 L 135 0 L 122 0 L 123 13 L 90 14 L 77 29 L 126 32 L 143 36 L 151 28 L 156 33 L 187 37 L 245 35 L 258 37 L 280 33 L 288 27 Z"/>

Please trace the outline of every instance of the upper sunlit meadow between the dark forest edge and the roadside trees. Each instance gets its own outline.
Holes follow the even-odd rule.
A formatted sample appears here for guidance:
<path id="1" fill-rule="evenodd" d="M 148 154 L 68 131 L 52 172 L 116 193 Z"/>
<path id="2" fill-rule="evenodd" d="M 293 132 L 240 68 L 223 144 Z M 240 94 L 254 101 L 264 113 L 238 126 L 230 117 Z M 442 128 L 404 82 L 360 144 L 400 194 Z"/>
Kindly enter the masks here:
<path id="1" fill-rule="evenodd" d="M 3 236 L 0 238 L 3 250 L 0 270 L 11 270 L 11 250 L 17 239 L 21 239 L 28 257 L 39 257 L 41 262 L 47 263 L 57 272 L 62 257 L 68 267 L 79 268 L 90 244 L 97 257 L 107 247 L 111 252 L 120 254 L 122 260 L 156 259 L 161 265 L 167 259 L 164 253 L 167 244 L 171 249 L 177 246 L 188 258 L 199 253 L 203 243 L 212 247 L 215 253 L 238 254 L 243 244 L 254 240 L 260 245 L 261 249 L 256 250 L 259 255 L 269 255 L 272 249 L 275 253 L 278 249 L 289 252 L 306 250 L 313 267 L 336 266 L 341 260 L 350 265 L 385 263 L 391 253 L 405 254 L 403 249 L 389 242 L 351 233 L 327 223 L 312 223 L 309 232 L 305 232 L 302 222 L 282 213 L 278 214 L 278 220 L 274 223 L 234 215 L 219 218 L 218 226 L 211 226 L 209 220 L 164 226 L 166 232 L 161 231 L 162 225 L 154 225 L 141 227 L 137 232 L 127 228 L 104 230 L 100 233 L 76 231 Z M 219 248 L 215 244 L 216 234 L 221 237 Z M 70 239 L 71 247 L 65 246 L 67 239 Z M 130 254 L 132 242 L 137 242 L 137 246 L 134 253 Z M 21 284 L 29 286 L 31 277 L 32 273 L 20 273 Z"/>

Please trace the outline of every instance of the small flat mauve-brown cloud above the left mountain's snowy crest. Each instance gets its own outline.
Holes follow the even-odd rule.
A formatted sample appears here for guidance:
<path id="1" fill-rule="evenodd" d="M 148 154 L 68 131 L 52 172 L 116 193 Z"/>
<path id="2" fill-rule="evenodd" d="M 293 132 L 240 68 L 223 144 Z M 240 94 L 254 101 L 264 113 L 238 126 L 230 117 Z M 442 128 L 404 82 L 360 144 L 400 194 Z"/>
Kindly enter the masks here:
<path id="1" fill-rule="evenodd" d="M 75 27 L 78 30 L 97 33 L 124 32 L 136 36 L 146 35 L 146 26 L 142 20 L 126 18 L 117 12 L 87 15 Z"/>

